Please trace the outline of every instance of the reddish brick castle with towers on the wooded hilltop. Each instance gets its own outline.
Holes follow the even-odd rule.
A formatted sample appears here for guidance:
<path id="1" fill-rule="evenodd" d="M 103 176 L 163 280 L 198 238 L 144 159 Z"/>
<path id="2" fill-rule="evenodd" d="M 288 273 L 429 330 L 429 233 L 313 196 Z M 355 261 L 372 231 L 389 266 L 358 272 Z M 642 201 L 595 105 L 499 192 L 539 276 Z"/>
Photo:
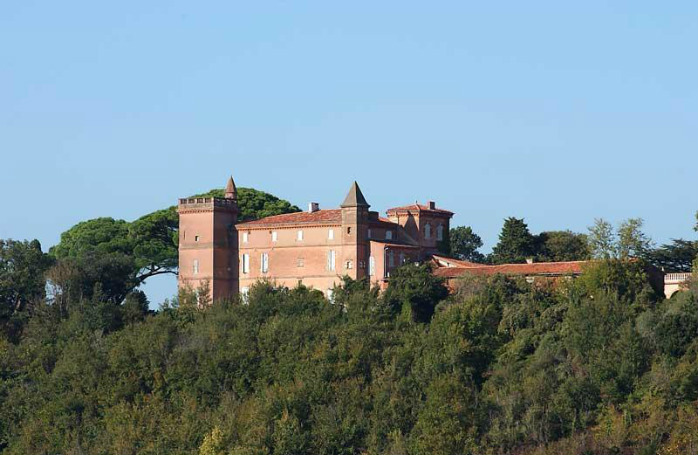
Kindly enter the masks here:
<path id="1" fill-rule="evenodd" d="M 246 294 L 258 280 L 321 290 L 331 299 L 343 276 L 368 278 L 381 288 L 405 262 L 438 253 L 453 212 L 412 204 L 371 211 L 354 184 L 339 208 L 269 216 L 238 223 L 231 177 L 224 198 L 179 200 L 179 286 L 208 286 L 212 299 Z"/>

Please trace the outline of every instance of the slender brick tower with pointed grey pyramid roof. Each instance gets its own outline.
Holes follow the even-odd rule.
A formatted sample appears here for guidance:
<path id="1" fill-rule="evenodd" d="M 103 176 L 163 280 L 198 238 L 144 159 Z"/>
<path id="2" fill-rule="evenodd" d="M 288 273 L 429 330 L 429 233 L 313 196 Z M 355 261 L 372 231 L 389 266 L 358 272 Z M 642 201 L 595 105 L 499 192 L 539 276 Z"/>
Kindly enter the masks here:
<path id="1" fill-rule="evenodd" d="M 349 189 L 340 206 L 342 209 L 342 270 L 357 280 L 367 276 L 369 242 L 368 209 L 371 207 L 364 198 L 358 183 Z"/>

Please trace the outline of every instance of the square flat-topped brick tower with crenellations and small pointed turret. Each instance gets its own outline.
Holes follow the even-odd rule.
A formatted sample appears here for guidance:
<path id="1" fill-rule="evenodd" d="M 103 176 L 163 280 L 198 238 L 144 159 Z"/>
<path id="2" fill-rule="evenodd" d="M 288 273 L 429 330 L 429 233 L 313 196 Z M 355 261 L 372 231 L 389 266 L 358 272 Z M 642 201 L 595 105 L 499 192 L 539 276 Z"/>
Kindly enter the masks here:
<path id="1" fill-rule="evenodd" d="M 213 300 L 238 292 L 237 188 L 228 179 L 225 197 L 179 200 L 179 287 L 209 289 Z"/>

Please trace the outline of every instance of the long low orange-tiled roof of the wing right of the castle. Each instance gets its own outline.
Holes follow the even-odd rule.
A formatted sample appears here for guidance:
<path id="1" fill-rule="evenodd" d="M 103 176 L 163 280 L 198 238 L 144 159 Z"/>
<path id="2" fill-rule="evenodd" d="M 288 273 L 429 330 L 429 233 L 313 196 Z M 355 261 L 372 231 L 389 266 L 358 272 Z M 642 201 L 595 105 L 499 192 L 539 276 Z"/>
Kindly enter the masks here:
<path id="1" fill-rule="evenodd" d="M 443 278 L 463 275 L 539 275 L 564 276 L 579 275 L 589 261 L 537 262 L 533 264 L 482 265 L 475 267 L 440 267 L 434 274 Z"/>

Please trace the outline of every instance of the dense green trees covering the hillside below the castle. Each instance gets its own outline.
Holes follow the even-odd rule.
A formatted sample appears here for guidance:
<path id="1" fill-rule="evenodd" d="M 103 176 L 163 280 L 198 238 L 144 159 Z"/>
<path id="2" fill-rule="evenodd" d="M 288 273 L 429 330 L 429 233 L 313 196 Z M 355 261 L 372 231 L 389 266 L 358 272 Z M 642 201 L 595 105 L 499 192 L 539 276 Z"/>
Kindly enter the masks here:
<path id="1" fill-rule="evenodd" d="M 407 264 L 382 293 L 260 282 L 158 311 L 94 271 L 103 256 L 142 270 L 131 224 L 56 247 L 94 269 L 0 242 L 0 452 L 697 453 L 698 284 L 663 299 L 640 228 L 597 222 L 575 280 L 449 293 Z"/>

